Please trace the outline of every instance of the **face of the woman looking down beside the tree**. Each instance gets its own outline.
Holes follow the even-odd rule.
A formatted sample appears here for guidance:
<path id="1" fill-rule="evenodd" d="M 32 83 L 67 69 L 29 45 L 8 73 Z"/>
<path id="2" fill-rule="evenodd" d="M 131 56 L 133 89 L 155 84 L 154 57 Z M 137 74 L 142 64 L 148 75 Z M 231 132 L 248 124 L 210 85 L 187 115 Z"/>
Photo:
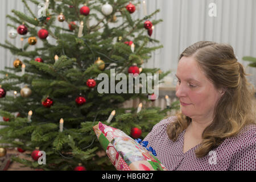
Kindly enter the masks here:
<path id="1" fill-rule="evenodd" d="M 177 66 L 176 96 L 180 102 L 189 105 L 180 105 L 184 115 L 205 121 L 213 119 L 214 106 L 222 96 L 221 90 L 216 90 L 205 77 L 193 57 L 181 57 Z"/>

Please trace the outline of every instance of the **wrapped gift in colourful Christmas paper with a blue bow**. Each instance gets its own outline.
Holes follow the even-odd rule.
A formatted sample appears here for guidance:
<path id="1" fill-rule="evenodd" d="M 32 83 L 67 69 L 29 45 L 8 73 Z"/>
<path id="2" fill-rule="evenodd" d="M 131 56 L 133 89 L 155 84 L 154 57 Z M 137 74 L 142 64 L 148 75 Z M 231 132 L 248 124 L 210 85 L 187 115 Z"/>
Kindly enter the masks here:
<path id="1" fill-rule="evenodd" d="M 102 124 L 93 127 L 101 146 L 118 171 L 166 171 L 148 142 L 136 141 L 123 131 Z M 150 144 L 148 145 L 150 146 Z"/>

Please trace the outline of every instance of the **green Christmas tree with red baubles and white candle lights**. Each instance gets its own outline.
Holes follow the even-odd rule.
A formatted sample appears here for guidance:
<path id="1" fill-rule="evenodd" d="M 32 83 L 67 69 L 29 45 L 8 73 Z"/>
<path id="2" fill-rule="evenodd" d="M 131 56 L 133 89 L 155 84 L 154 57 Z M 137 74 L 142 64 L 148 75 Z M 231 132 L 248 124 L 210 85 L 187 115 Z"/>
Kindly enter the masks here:
<path id="1" fill-rule="evenodd" d="M 143 60 L 147 61 L 152 52 L 162 48 L 162 45 L 149 46 L 159 43 L 151 38 L 152 26 L 162 22 L 152 20 L 159 10 L 142 19 L 133 19 L 131 14 L 139 11 L 137 1 L 22 2 L 28 13 L 13 10 L 14 15 L 7 18 L 14 24 L 7 26 L 14 28 L 9 38 L 15 39 L 18 34 L 27 43 L 22 48 L 15 47 L 9 40 L 0 44 L 17 57 L 13 68 L 0 71 L 3 75 L 0 115 L 6 121 L 1 122 L 5 127 L 0 129 L 0 147 L 9 144 L 8 147 L 18 147 L 20 152 L 31 151 L 34 160 L 18 157 L 13 160 L 32 168 L 115 170 L 108 156 L 97 155 L 102 148 L 92 127 L 98 121 L 133 138 L 144 138 L 152 126 L 166 117 L 167 111 L 179 109 L 177 103 L 164 110 L 123 108 L 123 102 L 134 98 L 154 101 L 148 100 L 148 96 L 155 96 L 152 90 L 142 93 L 145 85 L 137 88 L 139 93 L 100 93 L 97 89 L 98 75 L 105 73 L 111 77 L 111 69 L 124 73 L 127 80 L 132 77 L 133 81 L 142 73 L 160 73 L 158 68 L 139 69 Z M 40 17 L 32 12 L 28 3 L 42 7 Z M 60 23 L 65 24 L 59 26 Z M 39 41 L 43 46 L 33 48 Z M 159 80 L 168 73 L 160 73 Z M 115 85 L 118 82 L 114 80 Z M 106 88 L 108 86 L 109 90 L 113 88 L 111 84 Z M 14 115 L 15 112 L 19 114 Z M 135 135 L 131 130 L 142 134 Z M 39 164 L 39 151 L 46 153 L 46 164 Z"/>

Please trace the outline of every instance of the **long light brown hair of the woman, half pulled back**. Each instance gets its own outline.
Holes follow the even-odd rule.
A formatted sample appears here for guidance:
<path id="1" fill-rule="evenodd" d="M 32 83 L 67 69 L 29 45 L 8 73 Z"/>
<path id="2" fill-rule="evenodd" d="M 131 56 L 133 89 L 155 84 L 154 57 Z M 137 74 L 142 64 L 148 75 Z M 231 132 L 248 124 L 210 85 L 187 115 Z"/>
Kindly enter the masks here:
<path id="1" fill-rule="evenodd" d="M 214 108 L 213 122 L 203 131 L 203 140 L 196 150 L 196 156 L 201 158 L 225 138 L 238 134 L 245 125 L 255 124 L 254 86 L 247 81 L 245 69 L 229 44 L 200 41 L 186 48 L 179 60 L 183 56 L 193 57 L 214 87 L 225 90 Z M 181 111 L 176 116 L 177 120 L 167 126 L 173 141 L 192 121 Z"/>

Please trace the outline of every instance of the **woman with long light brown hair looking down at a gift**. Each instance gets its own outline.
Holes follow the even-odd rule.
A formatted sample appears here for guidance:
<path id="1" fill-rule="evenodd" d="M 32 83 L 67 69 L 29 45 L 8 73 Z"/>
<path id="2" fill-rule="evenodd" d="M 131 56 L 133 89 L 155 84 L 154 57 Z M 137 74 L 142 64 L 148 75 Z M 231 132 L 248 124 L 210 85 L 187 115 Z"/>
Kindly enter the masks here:
<path id="1" fill-rule="evenodd" d="M 228 44 L 197 42 L 181 53 L 181 111 L 144 140 L 169 170 L 256 170 L 254 88 Z"/>

